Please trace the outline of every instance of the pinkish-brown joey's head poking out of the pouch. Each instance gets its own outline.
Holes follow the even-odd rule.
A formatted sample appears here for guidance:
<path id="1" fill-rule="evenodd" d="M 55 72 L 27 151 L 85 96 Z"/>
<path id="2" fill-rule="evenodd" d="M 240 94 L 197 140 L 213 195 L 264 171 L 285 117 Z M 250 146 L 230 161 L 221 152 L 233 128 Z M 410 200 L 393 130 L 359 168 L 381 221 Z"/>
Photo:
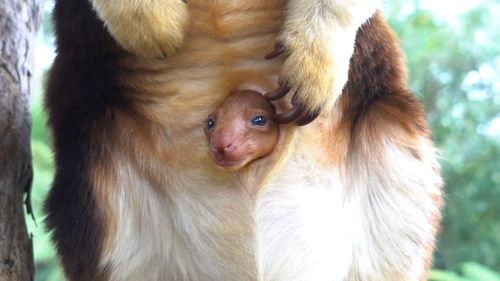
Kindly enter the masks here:
<path id="1" fill-rule="evenodd" d="M 237 170 L 271 153 L 279 138 L 274 106 L 261 94 L 233 92 L 205 124 L 210 154 L 222 168 Z"/>

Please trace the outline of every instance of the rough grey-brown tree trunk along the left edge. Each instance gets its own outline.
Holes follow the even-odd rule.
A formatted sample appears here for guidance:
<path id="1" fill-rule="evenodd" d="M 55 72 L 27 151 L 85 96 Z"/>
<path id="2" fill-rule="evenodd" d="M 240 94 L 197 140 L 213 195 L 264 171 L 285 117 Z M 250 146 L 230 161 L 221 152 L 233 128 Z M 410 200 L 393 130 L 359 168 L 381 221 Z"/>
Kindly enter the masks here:
<path id="1" fill-rule="evenodd" d="M 32 180 L 29 84 L 40 6 L 38 0 L 0 0 L 0 281 L 34 275 L 23 197 Z"/>

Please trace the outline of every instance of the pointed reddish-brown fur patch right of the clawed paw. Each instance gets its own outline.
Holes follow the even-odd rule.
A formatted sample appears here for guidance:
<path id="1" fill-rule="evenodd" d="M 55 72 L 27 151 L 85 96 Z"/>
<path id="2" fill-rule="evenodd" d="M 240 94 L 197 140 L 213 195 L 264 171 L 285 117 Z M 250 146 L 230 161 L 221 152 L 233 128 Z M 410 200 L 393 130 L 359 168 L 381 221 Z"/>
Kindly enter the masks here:
<path id="1" fill-rule="evenodd" d="M 348 125 L 351 145 L 380 139 L 390 127 L 414 140 L 429 136 L 423 107 L 408 89 L 397 38 L 380 12 L 358 31 L 339 104 L 340 123 Z M 362 130 L 371 130 L 374 139 L 357 139 Z"/>

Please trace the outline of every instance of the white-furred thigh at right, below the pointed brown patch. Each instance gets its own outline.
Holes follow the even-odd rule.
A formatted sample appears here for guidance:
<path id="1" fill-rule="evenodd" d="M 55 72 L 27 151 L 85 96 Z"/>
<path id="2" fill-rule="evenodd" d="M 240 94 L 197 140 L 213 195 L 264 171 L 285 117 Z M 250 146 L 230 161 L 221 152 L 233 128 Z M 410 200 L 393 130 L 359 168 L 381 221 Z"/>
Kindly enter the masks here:
<path id="1" fill-rule="evenodd" d="M 347 170 L 346 206 L 354 262 L 348 280 L 423 280 L 439 218 L 441 178 L 433 148 L 421 140 L 422 160 L 385 140 L 377 166 L 355 155 Z"/>

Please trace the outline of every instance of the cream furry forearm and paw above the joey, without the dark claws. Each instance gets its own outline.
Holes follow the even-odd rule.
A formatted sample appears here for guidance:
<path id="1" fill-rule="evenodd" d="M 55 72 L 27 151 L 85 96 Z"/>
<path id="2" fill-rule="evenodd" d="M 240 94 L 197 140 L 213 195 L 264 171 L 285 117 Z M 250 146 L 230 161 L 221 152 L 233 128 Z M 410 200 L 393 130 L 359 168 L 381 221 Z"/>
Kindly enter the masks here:
<path id="1" fill-rule="evenodd" d="M 382 0 L 290 0 L 280 37 L 288 58 L 280 72 L 308 111 L 330 110 L 347 81 L 356 31 Z"/>

